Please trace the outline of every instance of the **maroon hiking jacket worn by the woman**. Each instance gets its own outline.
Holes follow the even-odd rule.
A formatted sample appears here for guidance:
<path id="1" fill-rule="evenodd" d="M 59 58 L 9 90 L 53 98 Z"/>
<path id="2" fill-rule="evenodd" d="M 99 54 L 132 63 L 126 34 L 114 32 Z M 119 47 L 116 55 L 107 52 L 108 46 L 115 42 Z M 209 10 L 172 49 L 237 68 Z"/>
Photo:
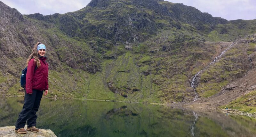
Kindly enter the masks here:
<path id="1" fill-rule="evenodd" d="M 26 92 L 33 93 L 33 90 L 48 90 L 48 63 L 46 57 L 39 57 L 41 66 L 36 68 L 34 58 L 28 62 L 26 74 Z M 35 70 L 36 68 L 36 70 Z M 35 71 L 35 72 L 34 72 Z"/>

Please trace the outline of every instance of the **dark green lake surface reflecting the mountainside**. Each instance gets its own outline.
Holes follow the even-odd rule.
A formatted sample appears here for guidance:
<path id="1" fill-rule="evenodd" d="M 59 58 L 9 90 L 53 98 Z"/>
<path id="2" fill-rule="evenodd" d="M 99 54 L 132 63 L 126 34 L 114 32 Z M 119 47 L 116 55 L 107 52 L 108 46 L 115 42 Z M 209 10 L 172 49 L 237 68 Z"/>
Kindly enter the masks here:
<path id="1" fill-rule="evenodd" d="M 14 126 L 22 106 L 2 97 L 0 127 Z M 37 114 L 58 137 L 256 137 L 254 118 L 163 105 L 42 99 Z"/>

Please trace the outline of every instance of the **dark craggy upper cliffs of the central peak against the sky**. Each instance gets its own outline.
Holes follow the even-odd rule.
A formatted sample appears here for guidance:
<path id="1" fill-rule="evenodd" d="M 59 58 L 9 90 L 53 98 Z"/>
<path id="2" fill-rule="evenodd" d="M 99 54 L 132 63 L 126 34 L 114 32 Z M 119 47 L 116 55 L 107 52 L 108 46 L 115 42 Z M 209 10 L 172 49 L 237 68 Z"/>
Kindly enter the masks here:
<path id="1" fill-rule="evenodd" d="M 100 12 L 99 12 L 100 11 Z M 194 7 L 164 1 L 115 1 L 92 0 L 87 7 L 65 15 L 28 15 L 30 18 L 60 23 L 60 30 L 69 37 L 102 37 L 112 43 L 121 41 L 141 42 L 158 29 L 176 27 L 180 23 L 204 30 L 204 25 L 226 24 L 227 20 L 213 18 Z M 55 21 L 53 21 L 55 18 Z"/>

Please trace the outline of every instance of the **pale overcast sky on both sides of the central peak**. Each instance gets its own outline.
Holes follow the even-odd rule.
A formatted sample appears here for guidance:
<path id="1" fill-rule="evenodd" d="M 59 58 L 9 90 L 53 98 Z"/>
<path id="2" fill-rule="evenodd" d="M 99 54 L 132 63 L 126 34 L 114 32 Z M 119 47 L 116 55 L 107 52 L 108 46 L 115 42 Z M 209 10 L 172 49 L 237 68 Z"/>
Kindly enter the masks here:
<path id="1" fill-rule="evenodd" d="M 91 0 L 1 0 L 21 14 L 67 13 L 85 7 Z M 256 19 L 256 0 L 166 0 L 172 3 L 196 7 L 213 17 L 227 20 Z"/>

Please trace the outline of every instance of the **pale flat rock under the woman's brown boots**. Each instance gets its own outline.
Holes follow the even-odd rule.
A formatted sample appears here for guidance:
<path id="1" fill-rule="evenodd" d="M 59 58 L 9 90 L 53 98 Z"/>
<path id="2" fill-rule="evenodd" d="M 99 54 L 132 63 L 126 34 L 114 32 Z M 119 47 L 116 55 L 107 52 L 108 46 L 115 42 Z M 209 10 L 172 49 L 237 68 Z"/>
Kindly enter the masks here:
<path id="1" fill-rule="evenodd" d="M 25 129 L 27 129 L 27 125 L 25 125 Z M 15 132 L 15 126 L 4 126 L 0 127 L 0 136 L 1 137 L 57 137 L 52 130 L 50 129 L 39 129 L 39 132 L 34 133 L 27 131 L 26 134 L 20 134 Z"/>

